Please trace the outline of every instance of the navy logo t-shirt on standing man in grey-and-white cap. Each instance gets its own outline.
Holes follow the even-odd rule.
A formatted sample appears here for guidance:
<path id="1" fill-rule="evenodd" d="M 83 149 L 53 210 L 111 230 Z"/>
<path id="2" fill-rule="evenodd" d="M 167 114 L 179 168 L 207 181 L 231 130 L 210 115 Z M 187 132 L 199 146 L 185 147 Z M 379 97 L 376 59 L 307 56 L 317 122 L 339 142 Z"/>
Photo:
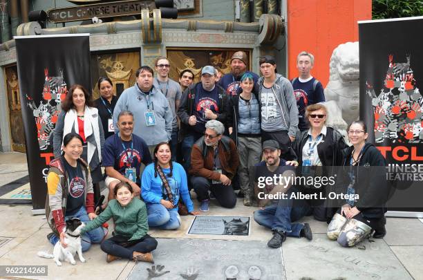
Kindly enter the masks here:
<path id="1" fill-rule="evenodd" d="M 218 107 L 218 88 L 215 86 L 212 91 L 205 91 L 203 85 L 198 83 L 196 88 L 196 99 L 194 100 L 194 115 L 197 118 L 194 130 L 197 133 L 205 133 L 205 124 L 210 119 L 205 116 L 205 109 L 212 110 L 213 113 L 220 113 Z"/>

